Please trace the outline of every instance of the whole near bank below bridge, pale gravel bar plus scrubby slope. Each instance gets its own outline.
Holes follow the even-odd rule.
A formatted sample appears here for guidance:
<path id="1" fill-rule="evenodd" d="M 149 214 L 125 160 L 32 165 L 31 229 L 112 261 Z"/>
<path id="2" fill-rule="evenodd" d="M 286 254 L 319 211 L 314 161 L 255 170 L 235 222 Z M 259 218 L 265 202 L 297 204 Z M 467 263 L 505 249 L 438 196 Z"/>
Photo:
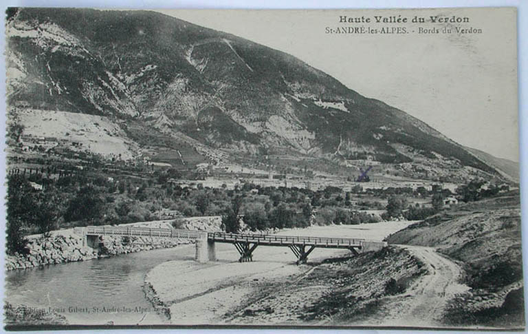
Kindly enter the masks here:
<path id="1" fill-rule="evenodd" d="M 351 325 L 383 314 L 426 273 L 405 249 L 386 247 L 299 266 L 171 261 L 151 270 L 145 287 L 172 324 Z"/>

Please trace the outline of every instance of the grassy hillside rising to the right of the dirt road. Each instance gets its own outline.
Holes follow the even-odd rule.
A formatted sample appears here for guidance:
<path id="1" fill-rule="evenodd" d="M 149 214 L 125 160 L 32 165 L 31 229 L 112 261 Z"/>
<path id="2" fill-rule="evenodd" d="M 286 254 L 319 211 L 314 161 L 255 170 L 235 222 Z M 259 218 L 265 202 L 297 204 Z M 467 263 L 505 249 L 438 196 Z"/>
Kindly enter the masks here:
<path id="1" fill-rule="evenodd" d="M 463 283 L 471 289 L 450 301 L 446 324 L 525 325 L 518 194 L 459 205 L 386 240 L 434 247 L 461 263 Z"/>

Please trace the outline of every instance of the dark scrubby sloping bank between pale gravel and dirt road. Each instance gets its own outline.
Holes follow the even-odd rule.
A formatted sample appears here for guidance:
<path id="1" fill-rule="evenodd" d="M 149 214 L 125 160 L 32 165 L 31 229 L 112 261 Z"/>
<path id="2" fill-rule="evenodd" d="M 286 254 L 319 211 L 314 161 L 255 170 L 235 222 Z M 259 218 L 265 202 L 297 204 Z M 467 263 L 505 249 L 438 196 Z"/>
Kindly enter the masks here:
<path id="1" fill-rule="evenodd" d="M 409 287 L 426 273 L 423 262 L 397 247 L 329 259 L 287 280 L 286 284 L 261 286 L 251 302 L 228 314 L 227 321 L 232 324 L 380 325 L 387 305 L 395 298 L 405 300 Z"/>

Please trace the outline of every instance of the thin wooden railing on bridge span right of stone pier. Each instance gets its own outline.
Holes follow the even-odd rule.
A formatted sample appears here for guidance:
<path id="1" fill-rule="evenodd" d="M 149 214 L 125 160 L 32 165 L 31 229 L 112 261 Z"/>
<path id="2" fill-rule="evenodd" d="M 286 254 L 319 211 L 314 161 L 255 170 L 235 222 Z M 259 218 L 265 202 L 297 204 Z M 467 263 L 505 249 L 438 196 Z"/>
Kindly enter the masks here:
<path id="1" fill-rule="evenodd" d="M 320 244 L 320 245 L 343 245 L 360 246 L 364 239 L 351 238 L 321 238 L 303 236 L 271 236 L 263 234 L 238 234 L 225 232 L 210 232 L 208 238 L 212 240 L 263 242 L 281 244 Z"/>

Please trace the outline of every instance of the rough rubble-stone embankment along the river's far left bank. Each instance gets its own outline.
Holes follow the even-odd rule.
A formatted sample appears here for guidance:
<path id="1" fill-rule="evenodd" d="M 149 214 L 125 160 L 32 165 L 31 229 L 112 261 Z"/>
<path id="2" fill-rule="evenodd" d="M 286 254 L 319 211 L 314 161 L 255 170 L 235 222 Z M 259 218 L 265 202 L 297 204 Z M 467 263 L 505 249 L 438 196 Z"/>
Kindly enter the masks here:
<path id="1" fill-rule="evenodd" d="M 201 231 L 218 231 L 221 223 L 219 216 L 182 218 L 184 228 Z M 120 225 L 121 226 L 121 225 Z M 154 222 L 135 222 L 123 226 L 170 228 L 170 220 Z M 28 237 L 25 253 L 5 256 L 5 269 L 27 269 L 45 264 L 85 261 L 96 258 L 106 258 L 112 255 L 148 251 L 151 249 L 176 247 L 188 244 L 189 240 L 173 238 L 150 237 L 110 237 L 105 236 L 98 249 L 83 246 L 81 236 L 73 233 L 72 229 L 52 231 L 49 236 L 34 235 Z"/>

